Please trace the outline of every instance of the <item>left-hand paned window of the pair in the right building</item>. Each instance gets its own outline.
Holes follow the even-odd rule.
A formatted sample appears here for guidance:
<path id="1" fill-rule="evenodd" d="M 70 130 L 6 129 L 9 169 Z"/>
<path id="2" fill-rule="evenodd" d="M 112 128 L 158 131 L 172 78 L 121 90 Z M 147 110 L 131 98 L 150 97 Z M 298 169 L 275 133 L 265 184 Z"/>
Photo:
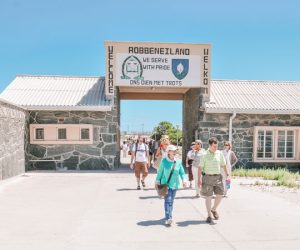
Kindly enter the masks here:
<path id="1" fill-rule="evenodd" d="M 272 158 L 273 131 L 258 130 L 257 158 Z"/>

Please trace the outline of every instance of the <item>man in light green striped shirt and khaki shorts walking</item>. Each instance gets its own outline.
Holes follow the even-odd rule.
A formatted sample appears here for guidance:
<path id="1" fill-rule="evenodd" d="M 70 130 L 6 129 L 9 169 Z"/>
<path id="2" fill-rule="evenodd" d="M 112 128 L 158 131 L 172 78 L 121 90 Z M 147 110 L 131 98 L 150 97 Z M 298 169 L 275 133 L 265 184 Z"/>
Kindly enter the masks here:
<path id="1" fill-rule="evenodd" d="M 214 137 L 210 138 L 208 140 L 208 144 L 209 149 L 200 159 L 198 186 L 201 187 L 201 195 L 205 197 L 205 205 L 207 210 L 206 222 L 212 223 L 212 215 L 214 219 L 219 219 L 217 208 L 220 205 L 224 195 L 221 168 L 223 168 L 225 171 L 226 179 L 229 178 L 229 174 L 224 155 L 220 150 L 218 150 L 218 140 Z M 216 195 L 216 198 L 212 207 L 211 199 L 213 194 Z"/>

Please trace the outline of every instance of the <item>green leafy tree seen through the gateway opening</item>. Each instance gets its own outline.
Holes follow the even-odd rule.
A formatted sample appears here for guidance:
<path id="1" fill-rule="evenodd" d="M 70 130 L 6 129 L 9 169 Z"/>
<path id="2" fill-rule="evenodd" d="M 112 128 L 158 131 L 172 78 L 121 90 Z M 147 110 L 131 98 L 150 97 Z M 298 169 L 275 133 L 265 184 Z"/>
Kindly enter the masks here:
<path id="1" fill-rule="evenodd" d="M 160 140 L 162 135 L 168 135 L 172 144 L 177 143 L 177 128 L 171 122 L 162 121 L 154 128 L 152 139 Z M 178 145 L 182 145 L 182 131 L 178 129 Z"/>

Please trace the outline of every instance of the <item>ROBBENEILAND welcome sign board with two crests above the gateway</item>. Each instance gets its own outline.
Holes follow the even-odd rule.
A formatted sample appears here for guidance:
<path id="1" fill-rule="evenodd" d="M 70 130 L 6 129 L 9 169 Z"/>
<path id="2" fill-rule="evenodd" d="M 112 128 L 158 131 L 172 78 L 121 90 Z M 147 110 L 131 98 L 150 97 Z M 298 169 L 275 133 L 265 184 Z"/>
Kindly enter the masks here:
<path id="1" fill-rule="evenodd" d="M 209 93 L 210 45 L 106 43 L 106 94 L 115 86 L 203 88 Z"/>

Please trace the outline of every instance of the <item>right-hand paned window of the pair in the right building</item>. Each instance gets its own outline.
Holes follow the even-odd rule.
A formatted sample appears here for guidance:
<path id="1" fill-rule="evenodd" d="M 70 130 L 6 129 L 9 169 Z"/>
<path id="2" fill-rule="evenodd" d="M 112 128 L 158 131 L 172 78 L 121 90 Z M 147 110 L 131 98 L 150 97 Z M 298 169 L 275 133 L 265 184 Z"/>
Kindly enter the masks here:
<path id="1" fill-rule="evenodd" d="M 278 130 L 277 157 L 294 158 L 295 133 L 293 130 Z"/>

